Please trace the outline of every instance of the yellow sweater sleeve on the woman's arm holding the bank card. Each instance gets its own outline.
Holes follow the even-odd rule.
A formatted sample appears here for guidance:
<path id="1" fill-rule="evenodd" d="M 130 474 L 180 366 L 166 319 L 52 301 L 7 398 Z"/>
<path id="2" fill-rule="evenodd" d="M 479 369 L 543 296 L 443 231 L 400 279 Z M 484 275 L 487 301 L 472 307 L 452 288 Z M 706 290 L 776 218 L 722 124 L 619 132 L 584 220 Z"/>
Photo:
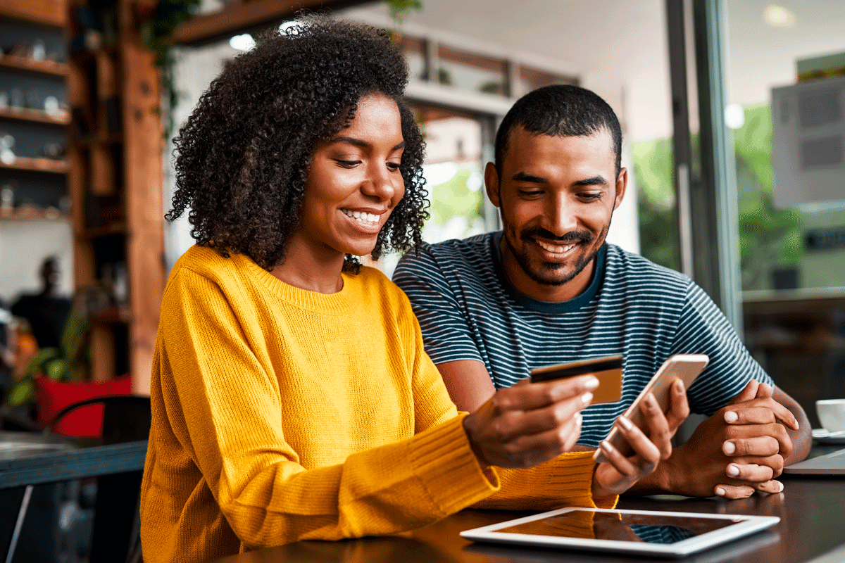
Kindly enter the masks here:
<path id="1" fill-rule="evenodd" d="M 248 345 L 226 295 L 197 273 L 171 279 L 160 330 L 173 433 L 250 547 L 419 528 L 498 489 L 456 415 L 344 463 L 304 468 L 297 436 L 282 430 L 276 374 Z"/>

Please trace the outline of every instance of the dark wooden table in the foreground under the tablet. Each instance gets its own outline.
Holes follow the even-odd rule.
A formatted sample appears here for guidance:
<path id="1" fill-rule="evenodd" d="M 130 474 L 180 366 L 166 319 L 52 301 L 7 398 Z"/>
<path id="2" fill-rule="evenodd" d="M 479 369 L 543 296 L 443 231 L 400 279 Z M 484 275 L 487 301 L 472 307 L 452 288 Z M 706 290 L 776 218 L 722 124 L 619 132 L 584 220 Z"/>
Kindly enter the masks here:
<path id="1" fill-rule="evenodd" d="M 841 446 L 840 446 L 841 447 Z M 833 447 L 814 448 L 814 454 Z M 784 477 L 777 495 L 749 499 L 623 497 L 619 508 L 715 514 L 777 516 L 774 528 L 685 558 L 684 562 L 804 563 L 845 544 L 845 479 Z M 426 528 L 396 536 L 339 542 L 302 541 L 234 555 L 217 563 L 546 563 L 644 561 L 638 557 L 473 544 L 459 533 L 532 512 L 465 510 Z M 845 560 L 845 553 L 833 561 Z M 819 560 L 821 563 L 822 560 Z M 827 563 L 827 560 L 824 561 Z"/>

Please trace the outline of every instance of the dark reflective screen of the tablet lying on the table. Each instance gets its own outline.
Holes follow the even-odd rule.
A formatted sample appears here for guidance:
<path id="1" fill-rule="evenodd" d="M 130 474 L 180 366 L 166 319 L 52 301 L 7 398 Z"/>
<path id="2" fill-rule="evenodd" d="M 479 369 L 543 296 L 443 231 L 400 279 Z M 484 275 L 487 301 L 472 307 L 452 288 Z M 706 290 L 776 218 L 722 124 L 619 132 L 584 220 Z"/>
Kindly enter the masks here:
<path id="1" fill-rule="evenodd" d="M 673 516 L 672 514 L 632 514 L 630 512 L 593 512 L 574 510 L 523 522 L 499 533 L 525 533 L 557 538 L 609 539 L 613 541 L 673 544 L 703 533 L 727 528 L 743 518 L 715 519 Z"/>

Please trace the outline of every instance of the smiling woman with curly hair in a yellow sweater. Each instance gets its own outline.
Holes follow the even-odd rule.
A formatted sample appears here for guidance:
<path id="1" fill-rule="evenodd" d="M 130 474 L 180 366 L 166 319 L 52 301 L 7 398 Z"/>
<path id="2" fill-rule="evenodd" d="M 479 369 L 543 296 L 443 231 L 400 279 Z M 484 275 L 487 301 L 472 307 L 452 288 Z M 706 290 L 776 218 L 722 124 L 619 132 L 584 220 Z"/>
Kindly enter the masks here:
<path id="1" fill-rule="evenodd" d="M 169 218 L 190 208 L 198 244 L 161 308 L 144 560 L 395 533 L 472 505 L 613 505 L 683 416 L 651 413 L 654 442 L 624 430 L 637 454 L 596 468 L 560 455 L 593 377 L 459 415 L 405 295 L 355 258 L 420 241 L 401 53 L 341 22 L 289 34 L 237 57 L 177 139 Z"/>

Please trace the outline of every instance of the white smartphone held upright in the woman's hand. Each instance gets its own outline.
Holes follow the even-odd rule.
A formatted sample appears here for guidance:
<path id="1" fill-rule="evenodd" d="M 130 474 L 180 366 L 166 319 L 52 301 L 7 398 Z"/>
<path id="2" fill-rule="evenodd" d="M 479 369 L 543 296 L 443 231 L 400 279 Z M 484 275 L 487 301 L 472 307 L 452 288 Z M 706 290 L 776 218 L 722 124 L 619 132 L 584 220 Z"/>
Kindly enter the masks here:
<path id="1" fill-rule="evenodd" d="M 669 389 L 672 386 L 672 382 L 674 382 L 675 379 L 680 379 L 681 382 L 684 383 L 684 389 L 689 389 L 692 382 L 694 382 L 695 378 L 698 377 L 698 374 L 706 368 L 709 361 L 710 358 L 704 354 L 676 354 L 669 356 L 668 360 L 664 361 L 663 365 L 660 366 L 660 369 L 657 370 L 657 373 L 651 377 L 651 381 L 648 382 L 646 387 L 643 387 L 640 395 L 634 399 L 634 403 L 631 403 L 628 410 L 624 412 L 624 417 L 634 423 L 640 430 L 645 432 L 647 436 L 648 429 L 646 416 L 642 414 L 640 402 L 645 400 L 646 395 L 649 392 L 652 392 L 654 393 L 654 398 L 657 399 L 657 404 L 660 406 L 660 409 L 665 413 L 669 409 Z M 619 450 L 619 452 L 622 452 L 622 455 L 625 457 L 634 453 L 634 450 L 630 447 L 628 441 L 624 439 L 622 433 L 617 430 L 615 425 L 610 429 L 607 441 Z M 607 461 L 604 456 L 602 456 L 602 450 L 596 450 L 596 453 L 593 454 L 592 458 L 595 459 L 597 463 Z"/>

